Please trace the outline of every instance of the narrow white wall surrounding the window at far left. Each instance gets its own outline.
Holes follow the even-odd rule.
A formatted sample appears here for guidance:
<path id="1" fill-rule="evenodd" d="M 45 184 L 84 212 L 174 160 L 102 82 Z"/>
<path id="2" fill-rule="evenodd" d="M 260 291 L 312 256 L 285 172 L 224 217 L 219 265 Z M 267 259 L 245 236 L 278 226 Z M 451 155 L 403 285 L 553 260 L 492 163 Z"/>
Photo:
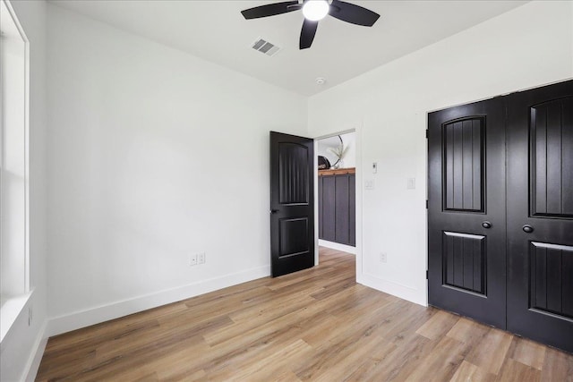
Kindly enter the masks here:
<path id="1" fill-rule="evenodd" d="M 13 9 L 30 40 L 30 290 L 32 294 L 2 341 L 0 380 L 33 379 L 46 345 L 46 3 L 13 1 Z M 28 311 L 32 322 L 28 324 Z M 30 374 L 28 371 L 30 370 Z"/>

